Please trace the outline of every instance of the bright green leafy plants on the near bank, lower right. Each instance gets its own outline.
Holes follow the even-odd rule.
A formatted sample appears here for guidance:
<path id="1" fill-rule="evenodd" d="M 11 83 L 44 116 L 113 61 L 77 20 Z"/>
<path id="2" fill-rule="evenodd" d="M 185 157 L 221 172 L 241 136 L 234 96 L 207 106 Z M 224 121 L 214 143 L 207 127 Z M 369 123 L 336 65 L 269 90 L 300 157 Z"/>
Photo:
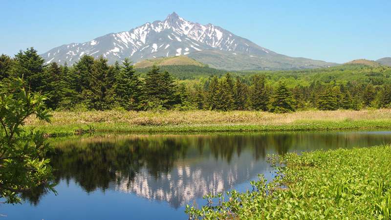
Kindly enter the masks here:
<path id="1" fill-rule="evenodd" d="M 278 176 L 212 196 L 190 219 L 391 219 L 391 146 L 272 157 Z"/>

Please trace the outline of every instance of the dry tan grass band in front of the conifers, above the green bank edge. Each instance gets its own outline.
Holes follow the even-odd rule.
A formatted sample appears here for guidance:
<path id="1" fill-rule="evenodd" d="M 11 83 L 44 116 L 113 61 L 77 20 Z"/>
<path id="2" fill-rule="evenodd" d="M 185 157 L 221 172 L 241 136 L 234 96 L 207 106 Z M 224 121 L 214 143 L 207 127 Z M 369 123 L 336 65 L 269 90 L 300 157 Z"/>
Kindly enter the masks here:
<path id="1" fill-rule="evenodd" d="M 51 126 L 88 125 L 92 123 L 128 124 L 137 126 L 171 125 L 284 125 L 306 121 L 365 121 L 391 120 L 391 110 L 337 110 L 337 111 L 298 111 L 275 114 L 262 111 L 55 111 Z M 34 117 L 26 125 L 43 126 Z"/>

